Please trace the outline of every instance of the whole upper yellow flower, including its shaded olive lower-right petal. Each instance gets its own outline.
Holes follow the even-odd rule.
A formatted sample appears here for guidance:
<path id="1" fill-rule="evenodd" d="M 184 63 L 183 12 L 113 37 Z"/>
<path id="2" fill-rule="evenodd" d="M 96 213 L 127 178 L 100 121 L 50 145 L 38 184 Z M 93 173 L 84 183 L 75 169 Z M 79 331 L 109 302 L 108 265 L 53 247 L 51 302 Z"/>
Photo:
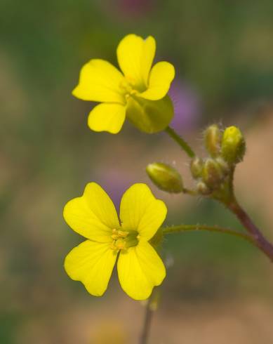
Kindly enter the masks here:
<path id="1" fill-rule="evenodd" d="M 173 65 L 152 67 L 156 42 L 128 34 L 119 43 L 117 60 L 122 73 L 105 60 L 90 60 L 81 69 L 72 94 L 82 100 L 101 102 L 88 117 L 93 131 L 118 133 L 125 117 L 147 133 L 164 130 L 173 117 L 168 89 L 175 76 Z M 152 67 L 152 69 L 151 69 Z"/>

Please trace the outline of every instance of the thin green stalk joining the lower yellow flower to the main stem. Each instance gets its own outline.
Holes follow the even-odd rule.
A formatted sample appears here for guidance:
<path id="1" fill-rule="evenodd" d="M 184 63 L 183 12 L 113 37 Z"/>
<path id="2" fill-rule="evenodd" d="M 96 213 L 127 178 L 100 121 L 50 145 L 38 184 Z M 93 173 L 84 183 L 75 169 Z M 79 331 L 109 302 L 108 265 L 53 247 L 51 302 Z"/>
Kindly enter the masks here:
<path id="1" fill-rule="evenodd" d="M 179 233 L 179 232 L 189 232 L 189 231 L 208 231 L 208 232 L 218 232 L 218 233 L 225 233 L 231 234 L 235 237 L 241 237 L 242 239 L 251 242 L 251 244 L 257 246 L 255 239 L 251 234 L 245 234 L 241 232 L 237 232 L 236 230 L 229 230 L 228 228 L 216 227 L 216 226 L 207 226 L 207 225 L 178 225 L 178 226 L 171 226 L 171 227 L 164 227 L 162 228 L 163 234 L 172 234 L 172 233 Z"/>

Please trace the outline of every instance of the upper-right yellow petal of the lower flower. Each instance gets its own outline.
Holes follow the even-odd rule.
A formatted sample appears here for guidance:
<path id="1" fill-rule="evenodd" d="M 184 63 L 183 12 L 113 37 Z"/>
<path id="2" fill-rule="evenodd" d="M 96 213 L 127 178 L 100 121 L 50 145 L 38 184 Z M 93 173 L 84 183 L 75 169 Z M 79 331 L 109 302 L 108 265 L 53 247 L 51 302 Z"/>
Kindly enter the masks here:
<path id="1" fill-rule="evenodd" d="M 137 230 L 140 238 L 149 240 L 166 218 L 164 201 L 156 199 L 146 184 L 134 184 L 121 199 L 121 225 L 126 230 Z"/>

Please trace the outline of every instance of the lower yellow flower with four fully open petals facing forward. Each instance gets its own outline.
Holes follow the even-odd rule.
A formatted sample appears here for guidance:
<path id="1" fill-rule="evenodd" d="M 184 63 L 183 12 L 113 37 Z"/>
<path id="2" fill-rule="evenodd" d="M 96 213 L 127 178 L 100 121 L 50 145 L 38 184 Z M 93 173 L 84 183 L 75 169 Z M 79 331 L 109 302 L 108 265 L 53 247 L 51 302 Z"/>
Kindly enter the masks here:
<path id="1" fill-rule="evenodd" d="M 102 296 L 118 258 L 122 289 L 135 300 L 145 300 L 166 276 L 161 258 L 149 244 L 166 212 L 164 202 L 147 185 L 134 184 L 121 199 L 119 220 L 107 193 L 88 183 L 84 194 L 64 209 L 67 224 L 87 239 L 65 258 L 67 274 L 93 296 Z"/>

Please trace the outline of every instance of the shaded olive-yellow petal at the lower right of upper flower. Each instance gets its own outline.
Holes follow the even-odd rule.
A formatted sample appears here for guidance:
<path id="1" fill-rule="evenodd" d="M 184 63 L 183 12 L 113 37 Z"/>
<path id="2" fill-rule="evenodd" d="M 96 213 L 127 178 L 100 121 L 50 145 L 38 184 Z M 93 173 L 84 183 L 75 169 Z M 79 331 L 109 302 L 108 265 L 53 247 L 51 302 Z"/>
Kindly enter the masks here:
<path id="1" fill-rule="evenodd" d="M 157 133 L 170 124 L 173 118 L 173 102 L 168 95 L 160 100 L 131 96 L 128 98 L 126 117 L 140 131 Z"/>

